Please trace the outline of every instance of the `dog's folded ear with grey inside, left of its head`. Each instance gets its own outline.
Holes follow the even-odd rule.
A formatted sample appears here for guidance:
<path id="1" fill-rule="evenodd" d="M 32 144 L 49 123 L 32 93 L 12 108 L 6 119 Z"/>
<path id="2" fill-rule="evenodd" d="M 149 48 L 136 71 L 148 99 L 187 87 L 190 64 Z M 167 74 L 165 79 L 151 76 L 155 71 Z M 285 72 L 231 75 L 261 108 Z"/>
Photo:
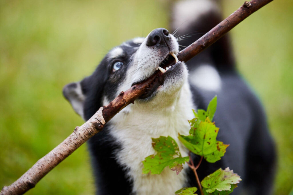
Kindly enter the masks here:
<path id="1" fill-rule="evenodd" d="M 84 119 L 84 101 L 87 93 L 87 81 L 89 77 L 84 78 L 80 82 L 73 82 L 63 87 L 64 97 L 71 103 L 74 111 Z"/>

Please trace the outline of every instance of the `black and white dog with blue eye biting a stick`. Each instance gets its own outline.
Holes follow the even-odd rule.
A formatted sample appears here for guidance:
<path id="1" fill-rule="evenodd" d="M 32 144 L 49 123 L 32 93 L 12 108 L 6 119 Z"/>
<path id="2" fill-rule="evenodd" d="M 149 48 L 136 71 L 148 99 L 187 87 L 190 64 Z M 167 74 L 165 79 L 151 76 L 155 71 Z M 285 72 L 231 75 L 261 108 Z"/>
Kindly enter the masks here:
<path id="1" fill-rule="evenodd" d="M 180 40 L 185 46 L 220 22 L 219 10 L 210 0 L 181 1 L 173 12 L 171 28 L 181 25 L 178 34 L 200 32 Z M 178 53 L 177 41 L 168 30 L 155 29 L 146 38 L 113 48 L 91 76 L 64 87 L 63 94 L 76 113 L 88 120 L 133 83 L 150 77 L 158 68 L 164 73 L 162 82 L 120 111 L 88 141 L 97 194 L 174 194 L 182 187 L 197 186 L 186 165 L 179 175 L 168 168 L 160 175 L 143 175 L 142 161 L 155 153 L 151 137 L 159 136 L 173 137 L 182 156 L 187 156 L 178 132 L 188 134 L 192 109 L 206 109 L 214 95 L 218 96 L 214 117 L 220 128 L 218 140 L 230 146 L 220 161 L 202 162 L 200 180 L 218 168 L 230 167 L 243 179 L 234 194 L 270 194 L 274 144 L 262 106 L 235 70 L 228 37 L 186 64 L 179 61 L 161 68 L 166 58 Z M 198 160 L 194 156 L 195 163 Z"/>

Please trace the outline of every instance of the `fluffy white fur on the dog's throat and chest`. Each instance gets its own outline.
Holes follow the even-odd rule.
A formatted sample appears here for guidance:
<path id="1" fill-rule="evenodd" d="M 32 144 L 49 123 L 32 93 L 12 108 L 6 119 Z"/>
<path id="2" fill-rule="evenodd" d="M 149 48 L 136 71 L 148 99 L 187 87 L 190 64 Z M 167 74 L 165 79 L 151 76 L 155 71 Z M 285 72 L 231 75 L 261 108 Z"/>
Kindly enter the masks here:
<path id="1" fill-rule="evenodd" d="M 178 143 L 182 156 L 188 155 L 178 140 L 178 132 L 188 134 L 188 120 L 194 117 L 194 106 L 188 84 L 180 93 L 178 99 L 168 106 L 149 108 L 135 103 L 111 120 L 111 134 L 122 145 L 121 150 L 115 151 L 117 162 L 129 169 L 127 174 L 133 180 L 136 194 L 174 194 L 186 182 L 184 169 L 179 175 L 169 168 L 160 175 L 142 174 L 142 161 L 155 153 L 151 137 L 171 136 Z"/>

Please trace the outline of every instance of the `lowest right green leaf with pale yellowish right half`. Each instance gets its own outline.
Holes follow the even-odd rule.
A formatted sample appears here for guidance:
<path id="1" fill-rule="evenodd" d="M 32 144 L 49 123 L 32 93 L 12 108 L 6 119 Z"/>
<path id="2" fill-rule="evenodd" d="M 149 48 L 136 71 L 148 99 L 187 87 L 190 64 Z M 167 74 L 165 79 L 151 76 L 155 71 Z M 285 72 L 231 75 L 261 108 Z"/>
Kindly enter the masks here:
<path id="1" fill-rule="evenodd" d="M 225 170 L 219 168 L 212 174 L 205 177 L 202 181 L 202 187 L 204 188 L 205 194 L 230 194 L 237 184 L 241 181 L 241 178 L 229 167 Z"/>

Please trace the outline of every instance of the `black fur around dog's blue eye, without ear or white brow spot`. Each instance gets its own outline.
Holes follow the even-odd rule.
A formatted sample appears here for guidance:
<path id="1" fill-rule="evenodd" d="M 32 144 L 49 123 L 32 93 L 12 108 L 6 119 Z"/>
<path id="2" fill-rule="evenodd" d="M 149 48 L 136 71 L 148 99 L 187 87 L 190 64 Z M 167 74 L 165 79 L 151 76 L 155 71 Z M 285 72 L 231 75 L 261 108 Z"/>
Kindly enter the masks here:
<path id="1" fill-rule="evenodd" d="M 133 41 L 127 41 L 119 47 L 115 47 L 111 51 L 119 50 L 119 55 L 111 56 L 111 51 L 103 58 L 91 77 L 91 91 L 86 95 L 84 102 L 85 119 L 88 120 L 96 111 L 102 106 L 102 97 L 106 96 L 112 100 L 117 93 L 118 85 L 125 78 L 127 69 L 130 66 L 131 56 L 135 53 L 139 44 Z M 113 72 L 113 65 L 115 62 L 120 61 L 123 63 L 122 67 Z"/>

